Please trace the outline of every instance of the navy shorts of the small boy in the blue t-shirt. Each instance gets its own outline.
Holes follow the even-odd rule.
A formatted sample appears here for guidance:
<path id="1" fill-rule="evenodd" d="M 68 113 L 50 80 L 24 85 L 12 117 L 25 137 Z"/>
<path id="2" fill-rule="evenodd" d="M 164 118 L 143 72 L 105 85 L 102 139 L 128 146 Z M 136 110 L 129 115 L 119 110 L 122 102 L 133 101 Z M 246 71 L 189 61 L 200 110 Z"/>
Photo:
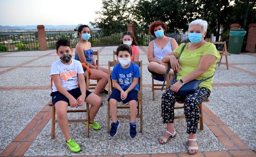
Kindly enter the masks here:
<path id="1" fill-rule="evenodd" d="M 123 89 L 123 91 L 126 91 L 126 89 Z M 118 89 L 114 88 L 114 91 L 111 92 L 110 97 L 107 99 L 107 101 L 109 101 L 111 98 L 120 102 L 121 101 L 121 92 Z M 138 91 L 136 91 L 134 89 L 131 90 L 128 93 L 126 99 L 123 100 L 123 104 L 126 104 L 127 102 L 130 102 L 131 100 L 138 101 Z"/>

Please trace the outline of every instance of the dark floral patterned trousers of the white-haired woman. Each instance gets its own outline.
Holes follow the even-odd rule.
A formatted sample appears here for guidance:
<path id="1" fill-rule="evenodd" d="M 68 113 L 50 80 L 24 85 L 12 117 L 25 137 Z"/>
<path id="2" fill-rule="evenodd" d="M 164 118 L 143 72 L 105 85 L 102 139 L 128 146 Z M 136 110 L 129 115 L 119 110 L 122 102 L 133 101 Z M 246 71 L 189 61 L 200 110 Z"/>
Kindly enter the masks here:
<path id="1" fill-rule="evenodd" d="M 210 96 L 210 90 L 206 87 L 198 87 L 197 91 L 186 97 L 179 97 L 171 91 L 171 86 L 162 95 L 163 123 L 174 122 L 174 104 L 177 100 L 184 100 L 184 113 L 187 122 L 187 133 L 196 133 L 199 121 L 199 105 Z"/>

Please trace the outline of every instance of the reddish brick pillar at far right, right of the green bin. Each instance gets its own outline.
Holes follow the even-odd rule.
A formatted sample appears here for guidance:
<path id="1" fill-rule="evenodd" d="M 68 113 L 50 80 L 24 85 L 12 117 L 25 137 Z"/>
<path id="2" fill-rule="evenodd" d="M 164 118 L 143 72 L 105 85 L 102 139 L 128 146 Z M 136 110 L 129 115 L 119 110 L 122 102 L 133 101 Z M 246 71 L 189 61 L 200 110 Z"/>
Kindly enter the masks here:
<path id="1" fill-rule="evenodd" d="M 249 53 L 255 53 L 255 49 L 256 49 L 256 23 L 252 23 L 249 25 L 245 51 Z"/>

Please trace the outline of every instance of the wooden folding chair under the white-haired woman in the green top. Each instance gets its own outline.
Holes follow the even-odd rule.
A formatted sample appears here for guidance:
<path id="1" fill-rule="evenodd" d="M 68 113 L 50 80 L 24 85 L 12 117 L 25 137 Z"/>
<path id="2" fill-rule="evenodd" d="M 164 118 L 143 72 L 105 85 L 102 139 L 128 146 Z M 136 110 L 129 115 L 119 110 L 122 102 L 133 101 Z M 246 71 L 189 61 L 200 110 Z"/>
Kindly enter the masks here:
<path id="1" fill-rule="evenodd" d="M 167 70 L 168 68 L 168 64 L 170 63 L 166 63 L 165 64 L 165 69 Z M 166 86 L 169 87 L 170 86 L 170 77 L 168 75 L 168 77 L 166 77 Z M 184 104 L 184 101 L 178 100 L 177 101 L 178 104 Z M 206 99 L 204 102 L 210 102 L 210 99 Z M 203 104 L 203 103 L 202 103 Z M 199 124 L 200 124 L 200 130 L 203 130 L 203 107 L 202 104 L 199 105 Z M 184 109 L 184 106 L 174 106 L 174 109 Z M 161 113 L 161 117 L 162 117 L 162 113 Z M 185 118 L 185 112 L 184 115 L 178 115 L 178 116 L 174 116 L 174 119 L 183 119 Z"/>

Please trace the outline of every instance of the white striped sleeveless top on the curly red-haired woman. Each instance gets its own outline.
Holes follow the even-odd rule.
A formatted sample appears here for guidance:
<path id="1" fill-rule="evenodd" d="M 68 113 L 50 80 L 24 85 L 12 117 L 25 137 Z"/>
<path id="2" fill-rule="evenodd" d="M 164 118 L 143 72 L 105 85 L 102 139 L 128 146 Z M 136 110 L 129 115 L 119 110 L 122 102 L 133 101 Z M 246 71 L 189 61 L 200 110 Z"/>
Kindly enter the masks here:
<path id="1" fill-rule="evenodd" d="M 158 46 L 156 46 L 156 44 L 155 44 L 155 40 L 153 40 L 153 42 L 154 42 L 154 58 L 155 59 L 162 60 L 162 58 L 165 57 L 165 55 L 172 52 L 171 38 L 169 40 L 170 41 L 167 43 L 167 45 L 163 49 L 159 49 Z"/>

